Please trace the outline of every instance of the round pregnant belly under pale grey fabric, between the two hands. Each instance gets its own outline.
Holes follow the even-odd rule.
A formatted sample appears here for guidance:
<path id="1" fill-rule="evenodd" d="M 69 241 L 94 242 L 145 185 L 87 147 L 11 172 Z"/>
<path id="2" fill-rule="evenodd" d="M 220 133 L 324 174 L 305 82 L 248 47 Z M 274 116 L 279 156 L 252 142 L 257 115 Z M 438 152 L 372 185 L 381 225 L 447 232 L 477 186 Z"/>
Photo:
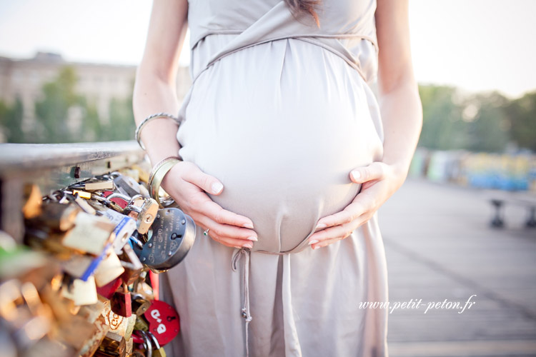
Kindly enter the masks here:
<path id="1" fill-rule="evenodd" d="M 179 154 L 222 181 L 216 203 L 252 219 L 253 251 L 306 247 L 319 218 L 354 199 L 349 171 L 382 155 L 364 86 L 298 40 L 238 51 L 195 82 Z"/>

